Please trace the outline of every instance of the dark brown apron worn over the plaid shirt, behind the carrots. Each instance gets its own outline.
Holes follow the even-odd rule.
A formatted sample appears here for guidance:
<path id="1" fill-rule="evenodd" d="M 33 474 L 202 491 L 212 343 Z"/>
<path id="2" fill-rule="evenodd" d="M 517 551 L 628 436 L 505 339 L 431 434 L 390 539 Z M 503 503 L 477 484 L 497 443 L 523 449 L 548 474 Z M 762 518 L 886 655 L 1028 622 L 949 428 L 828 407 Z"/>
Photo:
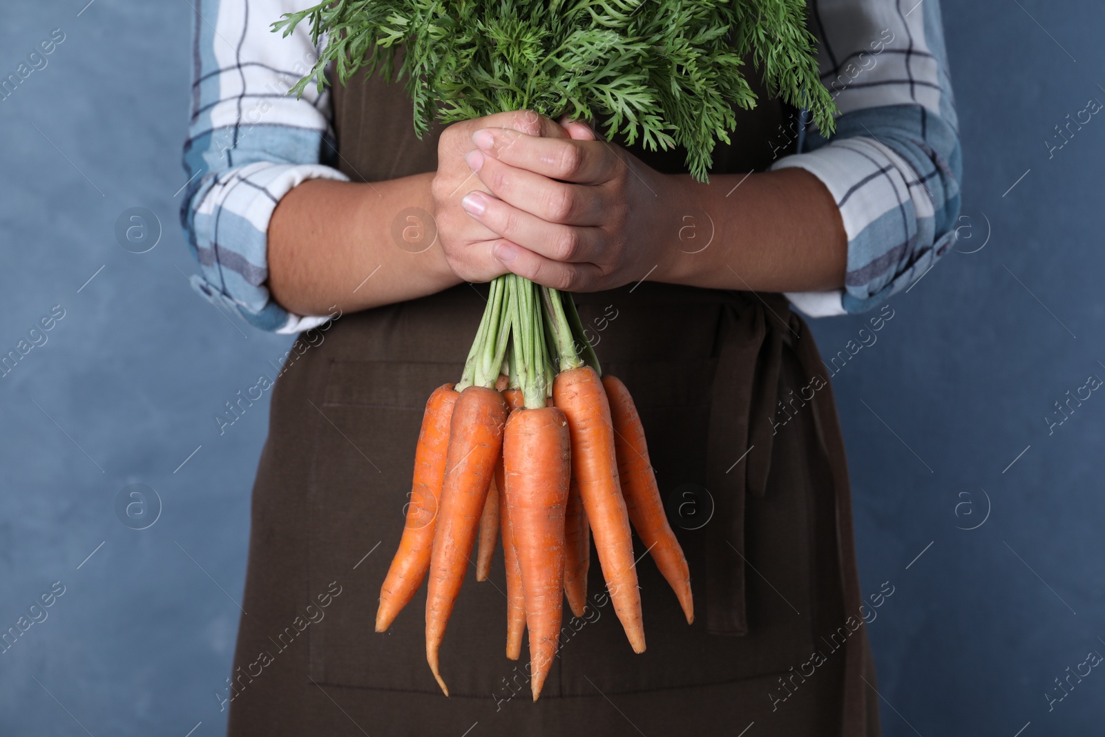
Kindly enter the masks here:
<path id="1" fill-rule="evenodd" d="M 714 171 L 770 164 L 766 141 L 785 138 L 788 122 L 761 99 L 740 114 L 743 145 L 715 151 Z M 436 168 L 440 128 L 413 135 L 400 86 L 356 78 L 334 102 L 351 179 Z M 684 170 L 681 151 L 632 150 Z M 880 734 L 831 388 L 779 295 L 654 283 L 576 295 L 603 370 L 640 410 L 691 567 L 693 625 L 642 557 L 648 650 L 634 655 L 592 551 L 590 609 L 565 610 L 559 656 L 530 703 L 527 653 L 504 655 L 496 552 L 488 581 L 470 571 L 449 624 L 450 698 L 425 664 L 424 586 L 387 633 L 372 631 L 425 399 L 460 377 L 485 295 L 461 285 L 345 315 L 296 343 L 253 491 L 248 614 L 223 693 L 230 734 L 736 735 L 753 723 L 749 735 Z"/>

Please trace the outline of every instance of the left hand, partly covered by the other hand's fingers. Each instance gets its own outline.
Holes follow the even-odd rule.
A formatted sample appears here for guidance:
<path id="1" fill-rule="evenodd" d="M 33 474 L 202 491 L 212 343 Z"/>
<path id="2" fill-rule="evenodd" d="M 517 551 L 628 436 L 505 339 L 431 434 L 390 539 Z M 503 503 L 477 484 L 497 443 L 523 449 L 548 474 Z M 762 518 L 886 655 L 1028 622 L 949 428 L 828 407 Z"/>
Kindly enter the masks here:
<path id="1" fill-rule="evenodd" d="M 513 143 L 520 143 L 523 139 L 566 140 L 568 133 L 555 120 L 533 110 L 519 110 L 455 123 L 441 134 L 438 143 L 438 171 L 431 183 L 431 194 L 442 250 L 450 269 L 457 276 L 467 282 L 490 282 L 507 272 L 503 261 L 493 255 L 502 234 L 490 229 L 480 219 L 470 218 L 461 204 L 465 197 L 478 197 L 480 192 L 488 191 L 465 158 L 476 148 L 473 134 L 477 130 L 492 131 L 503 149 L 508 149 Z M 472 192 L 476 194 L 471 194 Z"/>

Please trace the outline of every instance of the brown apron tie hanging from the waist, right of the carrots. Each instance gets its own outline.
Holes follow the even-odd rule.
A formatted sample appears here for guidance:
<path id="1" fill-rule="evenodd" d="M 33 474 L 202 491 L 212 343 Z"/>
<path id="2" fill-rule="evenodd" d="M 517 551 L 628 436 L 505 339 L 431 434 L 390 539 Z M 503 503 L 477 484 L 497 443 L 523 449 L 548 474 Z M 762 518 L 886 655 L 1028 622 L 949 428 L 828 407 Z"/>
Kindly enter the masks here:
<path id="1" fill-rule="evenodd" d="M 711 394 L 706 483 L 714 524 L 706 525 L 706 628 L 714 634 L 748 633 L 745 600 L 745 494 L 764 496 L 772 440 L 786 414 L 780 397 L 782 348 L 793 350 L 802 375 L 828 378 L 809 328 L 779 294 L 733 293 L 723 306 L 717 371 Z M 804 400 L 804 397 L 802 397 Z M 783 407 L 780 408 L 780 400 Z M 836 539 L 845 608 L 862 601 L 855 565 L 852 501 L 844 440 L 831 391 L 812 399 L 820 451 L 831 470 Z M 743 467 L 741 467 L 743 466 Z M 844 652 L 842 735 L 864 734 L 867 693 L 862 675 L 866 642 L 850 639 Z"/>

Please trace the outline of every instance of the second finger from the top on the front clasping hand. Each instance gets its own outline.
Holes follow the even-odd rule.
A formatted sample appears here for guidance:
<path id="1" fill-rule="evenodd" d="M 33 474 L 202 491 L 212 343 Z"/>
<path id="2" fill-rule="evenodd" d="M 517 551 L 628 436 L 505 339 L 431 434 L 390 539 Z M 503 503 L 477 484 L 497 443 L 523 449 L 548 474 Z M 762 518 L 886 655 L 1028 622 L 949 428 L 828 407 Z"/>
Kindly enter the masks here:
<path id="1" fill-rule="evenodd" d="M 604 206 L 596 187 L 570 185 L 507 166 L 476 149 L 466 160 L 492 194 L 541 220 L 564 225 L 599 225 Z"/>

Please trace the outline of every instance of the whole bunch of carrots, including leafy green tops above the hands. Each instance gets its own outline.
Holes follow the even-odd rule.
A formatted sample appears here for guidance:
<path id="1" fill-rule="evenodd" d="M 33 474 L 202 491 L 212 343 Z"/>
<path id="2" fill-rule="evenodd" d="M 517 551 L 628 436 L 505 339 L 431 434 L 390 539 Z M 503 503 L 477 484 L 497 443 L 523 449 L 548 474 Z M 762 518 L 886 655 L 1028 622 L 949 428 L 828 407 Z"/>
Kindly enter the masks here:
<path id="1" fill-rule="evenodd" d="M 604 120 L 651 150 L 686 149 L 706 180 L 735 108 L 756 104 L 751 59 L 772 94 L 834 128 L 806 3 L 793 0 L 324 0 L 273 24 L 303 21 L 320 48 L 293 87 L 319 92 L 360 70 L 406 77 L 420 136 L 502 110 Z M 399 54 L 400 46 L 402 54 Z M 579 349 L 577 350 L 577 345 Z M 505 377 L 499 382 L 499 377 Z M 380 591 L 388 629 L 430 573 L 427 660 L 438 651 L 476 539 L 487 575 L 501 530 L 506 560 L 506 654 L 529 630 L 536 701 L 556 655 L 561 591 L 583 612 L 590 536 L 630 644 L 644 651 L 630 522 L 694 618 L 686 559 L 664 516 L 644 431 L 621 381 L 602 377 L 570 295 L 512 274 L 492 282 L 459 383 L 427 402 L 399 551 Z"/>

